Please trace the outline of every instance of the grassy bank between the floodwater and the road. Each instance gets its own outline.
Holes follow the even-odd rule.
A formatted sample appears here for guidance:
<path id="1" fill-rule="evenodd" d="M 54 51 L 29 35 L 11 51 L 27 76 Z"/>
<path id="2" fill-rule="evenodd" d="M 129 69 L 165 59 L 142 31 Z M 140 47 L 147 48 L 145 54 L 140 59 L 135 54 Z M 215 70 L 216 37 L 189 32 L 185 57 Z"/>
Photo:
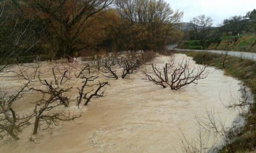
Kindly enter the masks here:
<path id="1" fill-rule="evenodd" d="M 199 64 L 206 64 L 222 69 L 224 56 L 220 54 L 205 52 L 184 52 L 186 55 L 193 57 Z M 237 57 L 228 56 L 225 62 L 225 74 L 236 77 L 244 82 L 256 95 L 256 62 L 244 60 Z M 250 108 L 250 112 L 246 115 L 246 125 L 241 134 L 229 146 L 224 147 L 221 153 L 240 153 L 256 151 L 256 97 Z"/>

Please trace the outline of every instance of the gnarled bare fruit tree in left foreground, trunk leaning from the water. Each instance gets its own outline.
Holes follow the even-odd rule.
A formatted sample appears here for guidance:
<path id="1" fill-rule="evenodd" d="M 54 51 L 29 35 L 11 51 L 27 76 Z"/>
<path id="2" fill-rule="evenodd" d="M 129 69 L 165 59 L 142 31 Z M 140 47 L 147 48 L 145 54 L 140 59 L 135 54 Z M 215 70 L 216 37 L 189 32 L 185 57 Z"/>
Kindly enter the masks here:
<path id="1" fill-rule="evenodd" d="M 58 120 L 62 121 L 71 121 L 78 117 L 81 117 L 81 113 L 75 114 L 75 110 L 70 112 L 68 110 L 70 97 L 66 95 L 68 91 L 72 89 L 72 86 L 65 85 L 69 77 L 66 77 L 67 71 L 63 74 L 60 73 L 60 77 L 57 77 L 55 74 L 55 69 L 52 68 L 53 79 L 46 80 L 41 79 L 38 76 L 40 83 L 45 87 L 45 89 L 36 89 L 34 87 L 31 88 L 33 91 L 40 92 L 43 97 L 36 101 L 36 106 L 34 109 L 35 113 L 35 123 L 33 134 L 37 133 L 38 128 L 40 128 L 41 122 L 46 122 L 48 125 L 47 128 L 50 128 L 50 125 L 58 125 Z M 60 107 L 61 110 L 52 111 L 55 108 Z"/>

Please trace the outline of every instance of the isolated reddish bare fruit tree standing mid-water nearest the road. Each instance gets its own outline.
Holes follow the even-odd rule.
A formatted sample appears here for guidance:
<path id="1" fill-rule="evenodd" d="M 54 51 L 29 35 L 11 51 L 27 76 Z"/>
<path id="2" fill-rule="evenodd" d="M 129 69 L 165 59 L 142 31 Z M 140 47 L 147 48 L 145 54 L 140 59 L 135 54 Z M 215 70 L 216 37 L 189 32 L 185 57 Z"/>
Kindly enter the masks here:
<path id="1" fill-rule="evenodd" d="M 151 71 L 142 71 L 145 76 L 143 79 L 164 88 L 170 87 L 172 90 L 178 90 L 188 84 L 197 84 L 198 80 L 206 78 L 210 73 L 206 70 L 206 66 L 195 67 L 191 64 L 190 59 L 183 58 L 175 63 L 174 57 L 171 57 L 163 70 L 152 63 Z"/>

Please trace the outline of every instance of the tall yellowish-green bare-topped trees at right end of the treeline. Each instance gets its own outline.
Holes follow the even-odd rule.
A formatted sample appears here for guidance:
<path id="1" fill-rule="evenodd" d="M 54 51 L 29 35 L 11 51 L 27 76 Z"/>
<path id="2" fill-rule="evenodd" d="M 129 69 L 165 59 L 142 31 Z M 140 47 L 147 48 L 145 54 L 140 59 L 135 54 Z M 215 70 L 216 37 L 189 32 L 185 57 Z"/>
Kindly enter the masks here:
<path id="1" fill-rule="evenodd" d="M 183 12 L 173 11 L 163 0 L 119 0 L 117 11 L 129 25 L 124 32 L 129 50 L 163 49 L 183 17 Z"/>

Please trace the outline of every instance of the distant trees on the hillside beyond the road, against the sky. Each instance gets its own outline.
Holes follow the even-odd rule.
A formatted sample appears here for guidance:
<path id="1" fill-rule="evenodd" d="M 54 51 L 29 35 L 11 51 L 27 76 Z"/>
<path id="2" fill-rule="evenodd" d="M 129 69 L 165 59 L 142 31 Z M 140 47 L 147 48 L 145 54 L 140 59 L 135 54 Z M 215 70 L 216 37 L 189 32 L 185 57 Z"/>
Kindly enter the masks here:
<path id="1" fill-rule="evenodd" d="M 256 10 L 248 11 L 245 16 L 232 16 L 224 19 L 217 27 L 212 26 L 212 18 L 200 15 L 188 23 L 183 40 L 205 40 L 223 36 L 237 36 L 238 34 L 256 33 Z"/>

